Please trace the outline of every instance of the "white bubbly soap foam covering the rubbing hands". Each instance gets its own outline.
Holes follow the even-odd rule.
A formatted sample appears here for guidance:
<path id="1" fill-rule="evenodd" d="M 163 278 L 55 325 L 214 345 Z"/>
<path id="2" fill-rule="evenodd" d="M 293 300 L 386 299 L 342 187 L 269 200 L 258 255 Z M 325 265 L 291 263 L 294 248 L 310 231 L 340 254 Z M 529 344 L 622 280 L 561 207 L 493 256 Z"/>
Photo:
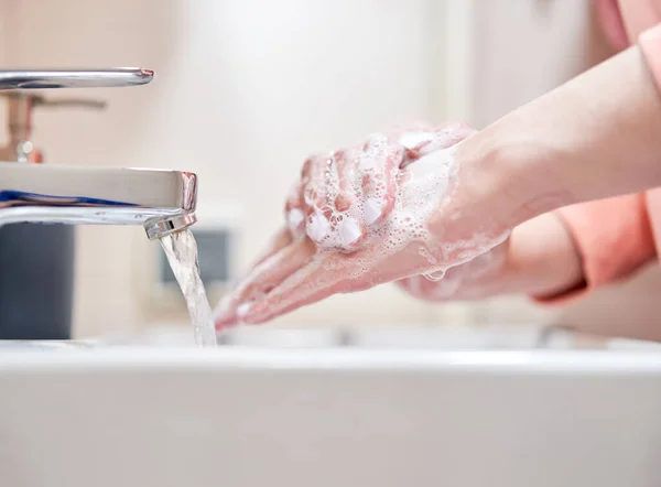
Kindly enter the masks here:
<path id="1" fill-rule="evenodd" d="M 370 248 L 369 258 L 357 259 L 348 270 L 346 278 L 355 279 L 373 270 L 375 260 L 420 244 L 419 252 L 429 262 L 425 275 L 436 281 L 451 267 L 505 241 L 509 234 L 495 236 L 478 228 L 468 239 L 448 236 L 440 242 L 429 228 L 431 217 L 452 202 L 460 183 L 452 145 L 470 133 L 463 125 L 373 133 L 361 145 L 311 158 L 310 178 L 303 182 L 303 199 L 312 208 L 305 231 L 326 269 L 337 261 L 339 270 L 342 253 Z M 338 204 L 347 198 L 349 204 Z M 382 218 L 389 203 L 392 209 Z M 299 217 L 290 215 L 290 225 L 299 224 Z"/>

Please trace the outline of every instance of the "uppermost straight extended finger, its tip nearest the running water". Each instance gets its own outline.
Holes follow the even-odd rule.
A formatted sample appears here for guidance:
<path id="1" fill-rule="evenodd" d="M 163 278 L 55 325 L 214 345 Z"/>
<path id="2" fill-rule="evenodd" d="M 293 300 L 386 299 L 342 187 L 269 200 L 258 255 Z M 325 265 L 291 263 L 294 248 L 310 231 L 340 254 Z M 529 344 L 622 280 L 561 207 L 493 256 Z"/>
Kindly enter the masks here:
<path id="1" fill-rule="evenodd" d="M 232 293 L 229 303 L 224 303 L 225 309 L 216 315 L 216 326 L 240 322 L 250 303 L 306 266 L 315 252 L 310 239 L 296 240 L 257 266 Z"/>

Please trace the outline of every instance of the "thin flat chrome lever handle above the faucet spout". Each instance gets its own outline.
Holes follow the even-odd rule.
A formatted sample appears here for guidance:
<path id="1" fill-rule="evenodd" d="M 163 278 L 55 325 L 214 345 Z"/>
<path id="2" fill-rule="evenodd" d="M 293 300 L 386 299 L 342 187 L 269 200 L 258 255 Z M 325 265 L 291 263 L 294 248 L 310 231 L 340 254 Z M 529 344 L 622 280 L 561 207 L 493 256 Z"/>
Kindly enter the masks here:
<path id="1" fill-rule="evenodd" d="M 46 88 L 112 88 L 147 85 L 154 72 L 142 68 L 0 71 L 0 90 Z"/>

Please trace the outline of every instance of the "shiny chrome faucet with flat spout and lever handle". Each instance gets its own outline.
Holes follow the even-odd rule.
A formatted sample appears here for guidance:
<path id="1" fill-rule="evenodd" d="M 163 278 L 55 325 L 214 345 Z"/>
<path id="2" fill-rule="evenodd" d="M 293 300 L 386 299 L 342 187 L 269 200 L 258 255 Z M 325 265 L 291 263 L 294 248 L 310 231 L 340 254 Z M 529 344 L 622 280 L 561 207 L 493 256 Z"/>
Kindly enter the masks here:
<path id="1" fill-rule="evenodd" d="M 138 68 L 0 71 L 0 91 L 137 86 L 153 77 Z M 193 225 L 196 202 L 189 172 L 0 162 L 0 226 L 142 225 L 152 240 Z"/>

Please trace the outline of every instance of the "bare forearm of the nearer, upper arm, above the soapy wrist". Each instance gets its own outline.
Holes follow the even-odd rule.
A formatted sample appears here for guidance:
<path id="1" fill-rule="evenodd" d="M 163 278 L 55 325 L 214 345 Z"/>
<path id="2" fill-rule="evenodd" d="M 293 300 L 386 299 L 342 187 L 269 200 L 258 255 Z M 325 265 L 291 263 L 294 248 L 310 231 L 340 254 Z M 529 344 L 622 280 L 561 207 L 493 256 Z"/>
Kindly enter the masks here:
<path id="1" fill-rule="evenodd" d="M 661 185 L 661 97 L 638 47 L 457 147 L 516 226 L 574 203 Z"/>

